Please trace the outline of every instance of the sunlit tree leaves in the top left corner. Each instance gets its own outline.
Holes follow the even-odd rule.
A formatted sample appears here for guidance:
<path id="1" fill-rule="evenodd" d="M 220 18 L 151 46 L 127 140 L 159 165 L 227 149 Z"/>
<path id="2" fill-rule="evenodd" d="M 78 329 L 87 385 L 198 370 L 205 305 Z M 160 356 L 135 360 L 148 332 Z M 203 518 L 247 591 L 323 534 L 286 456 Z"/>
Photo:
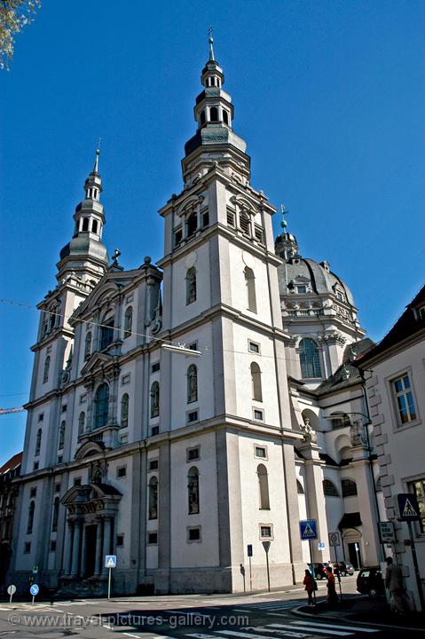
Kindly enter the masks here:
<path id="1" fill-rule="evenodd" d="M 0 68 L 9 70 L 15 36 L 33 21 L 41 0 L 0 0 Z"/>

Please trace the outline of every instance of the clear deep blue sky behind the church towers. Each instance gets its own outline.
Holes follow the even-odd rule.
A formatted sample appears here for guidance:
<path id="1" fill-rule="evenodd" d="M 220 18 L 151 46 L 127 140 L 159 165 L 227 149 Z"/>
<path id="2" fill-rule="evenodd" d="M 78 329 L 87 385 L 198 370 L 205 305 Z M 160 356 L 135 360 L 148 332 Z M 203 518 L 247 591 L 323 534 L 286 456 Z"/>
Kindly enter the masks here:
<path id="1" fill-rule="evenodd" d="M 127 268 L 161 256 L 156 211 L 181 188 L 210 24 L 253 185 L 380 339 L 424 280 L 423 1 L 43 0 L 0 75 L 0 296 L 35 305 L 54 288 L 98 136 L 106 245 Z M 0 318 L 0 406 L 19 406 L 37 312 Z M 24 425 L 0 417 L 0 463 Z"/>

